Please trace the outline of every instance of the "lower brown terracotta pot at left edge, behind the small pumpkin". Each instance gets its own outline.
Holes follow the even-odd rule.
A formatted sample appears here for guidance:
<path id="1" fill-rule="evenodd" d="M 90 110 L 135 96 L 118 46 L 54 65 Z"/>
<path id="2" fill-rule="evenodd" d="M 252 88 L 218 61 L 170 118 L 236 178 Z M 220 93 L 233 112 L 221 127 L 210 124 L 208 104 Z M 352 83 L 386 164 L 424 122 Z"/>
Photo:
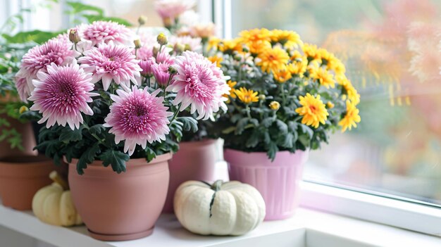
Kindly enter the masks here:
<path id="1" fill-rule="evenodd" d="M 0 197 L 3 205 L 31 210 L 35 193 L 51 184 L 49 173 L 52 170 L 53 161 L 44 156 L 0 158 Z"/>

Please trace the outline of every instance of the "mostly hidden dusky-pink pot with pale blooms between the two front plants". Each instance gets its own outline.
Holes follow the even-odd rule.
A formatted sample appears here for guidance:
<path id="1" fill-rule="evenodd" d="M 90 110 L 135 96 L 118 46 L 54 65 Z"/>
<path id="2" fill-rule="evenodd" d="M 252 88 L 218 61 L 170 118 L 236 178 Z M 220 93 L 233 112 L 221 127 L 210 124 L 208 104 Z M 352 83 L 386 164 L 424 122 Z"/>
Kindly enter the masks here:
<path id="1" fill-rule="evenodd" d="M 192 8 L 196 4 L 193 0 L 157 0 L 154 2 L 157 13 L 163 19 L 165 27 L 172 34 L 168 47 L 175 50 L 191 50 L 205 54 L 206 43 L 214 35 L 213 23 L 204 23 Z M 147 44 L 140 49 L 140 58 L 148 60 L 153 56 L 153 47 L 159 47 L 156 40 L 149 40 L 149 36 L 140 34 Z M 156 44 L 155 44 L 156 43 Z M 209 58 L 210 59 L 210 58 Z M 151 60 L 151 58 L 150 58 Z M 212 61 L 213 62 L 213 61 Z M 155 70 L 147 70 L 153 76 Z M 203 94 L 210 94 L 209 89 Z M 187 116 L 194 113 L 187 112 Z M 195 115 L 194 117 L 197 117 Z M 218 142 L 209 139 L 206 125 L 210 125 L 216 116 L 198 123 L 197 132 L 183 132 L 180 150 L 173 155 L 169 162 L 170 182 L 163 213 L 173 213 L 173 198 L 178 186 L 188 180 L 209 181 L 215 180 L 215 163 Z"/>

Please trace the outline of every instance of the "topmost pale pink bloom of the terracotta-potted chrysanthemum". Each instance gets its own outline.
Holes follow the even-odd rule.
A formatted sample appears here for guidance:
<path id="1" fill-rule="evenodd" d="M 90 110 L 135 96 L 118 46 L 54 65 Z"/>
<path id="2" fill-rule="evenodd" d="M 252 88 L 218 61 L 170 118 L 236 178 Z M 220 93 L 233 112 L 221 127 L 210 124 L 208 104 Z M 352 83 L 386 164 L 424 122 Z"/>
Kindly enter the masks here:
<path id="1" fill-rule="evenodd" d="M 111 21 L 94 21 L 89 25 L 80 25 L 82 39 L 89 40 L 93 46 L 97 44 L 114 42 L 115 44 L 132 45 L 135 34 L 124 25 Z"/>

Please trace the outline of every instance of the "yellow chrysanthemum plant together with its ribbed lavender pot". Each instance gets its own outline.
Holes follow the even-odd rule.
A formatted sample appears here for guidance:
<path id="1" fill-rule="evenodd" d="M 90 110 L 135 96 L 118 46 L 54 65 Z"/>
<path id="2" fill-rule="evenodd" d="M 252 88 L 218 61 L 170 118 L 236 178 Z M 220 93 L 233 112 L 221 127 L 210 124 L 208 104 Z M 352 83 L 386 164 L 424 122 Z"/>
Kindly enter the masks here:
<path id="1" fill-rule="evenodd" d="M 246 30 L 212 46 L 231 77 L 228 113 L 211 130 L 225 139 L 230 179 L 261 192 L 266 220 L 290 217 L 309 151 L 356 127 L 360 96 L 338 58 L 295 32 Z"/>

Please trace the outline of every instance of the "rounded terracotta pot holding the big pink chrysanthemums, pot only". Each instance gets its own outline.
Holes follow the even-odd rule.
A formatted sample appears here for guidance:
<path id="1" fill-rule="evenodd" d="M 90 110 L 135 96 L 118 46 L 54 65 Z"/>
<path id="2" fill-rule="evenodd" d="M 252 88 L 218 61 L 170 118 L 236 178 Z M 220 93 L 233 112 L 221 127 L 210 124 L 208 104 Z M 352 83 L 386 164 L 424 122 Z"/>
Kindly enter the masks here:
<path id="1" fill-rule="evenodd" d="M 124 241 L 153 232 L 168 189 L 171 153 L 150 163 L 144 158 L 127 162 L 127 171 L 117 174 L 101 161 L 78 175 L 77 161 L 69 164 L 69 185 L 78 213 L 94 239 Z"/>

